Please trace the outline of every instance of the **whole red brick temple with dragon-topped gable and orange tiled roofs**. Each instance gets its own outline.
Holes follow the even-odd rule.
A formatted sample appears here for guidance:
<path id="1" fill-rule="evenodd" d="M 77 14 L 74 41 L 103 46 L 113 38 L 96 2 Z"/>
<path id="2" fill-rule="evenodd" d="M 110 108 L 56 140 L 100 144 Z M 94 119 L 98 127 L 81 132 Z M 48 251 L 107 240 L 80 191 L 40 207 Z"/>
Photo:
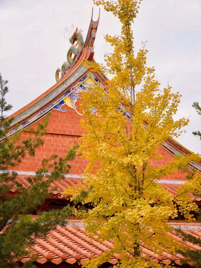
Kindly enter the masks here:
<path id="1" fill-rule="evenodd" d="M 78 143 L 79 137 L 83 134 L 83 130 L 79 125 L 79 120 L 82 118 L 82 112 L 79 109 L 80 92 L 87 89 L 90 85 L 100 82 L 103 86 L 106 77 L 98 72 L 90 71 L 83 66 L 83 61 L 93 60 L 94 57 L 94 42 L 98 28 L 99 18 L 93 20 L 93 13 L 90 20 L 89 30 L 85 41 L 77 28 L 75 29 L 70 43 L 72 46 L 67 53 L 67 62 L 63 63 L 61 70 L 56 71 L 57 83 L 50 89 L 46 90 L 35 100 L 30 102 L 12 116 L 15 118 L 13 123 L 13 131 L 16 125 L 19 129 L 31 126 L 36 127 L 37 122 L 50 112 L 47 133 L 44 135 L 44 147 L 36 150 L 35 157 L 26 158 L 16 171 L 19 174 L 19 181 L 23 185 L 29 185 L 28 176 L 34 176 L 35 171 L 40 167 L 43 158 L 50 157 L 53 153 L 64 157 L 69 145 Z M 77 43 L 77 45 L 75 45 Z M 96 113 L 94 109 L 92 113 Z M 12 131 L 11 131 L 12 134 Z M 33 136 L 28 130 L 22 132 L 22 139 Z M 187 154 L 189 151 L 173 139 L 164 141 L 159 146 L 160 154 L 163 158 L 152 160 L 152 165 L 162 166 L 170 162 L 174 158 L 174 154 Z M 190 162 L 190 166 L 201 170 L 201 165 L 195 162 Z M 71 185 L 76 185 L 82 180 L 82 171 L 86 167 L 86 161 L 81 158 L 75 159 L 72 163 L 70 174 L 59 183 L 55 182 L 57 190 L 53 192 L 53 196 L 47 197 L 45 203 L 38 207 L 35 211 L 48 211 L 52 209 L 62 208 L 69 203 L 69 200 L 58 197 L 64 189 Z M 185 174 L 176 172 L 166 176 L 161 180 L 162 185 L 172 194 L 176 192 L 178 185 L 186 181 Z M 15 193 L 11 193 L 15 194 Z M 197 198 L 198 205 L 201 204 L 201 199 Z M 171 220 L 171 226 L 182 227 L 187 232 L 193 233 L 201 238 L 200 223 L 187 223 L 182 219 Z M 185 243 L 176 233 L 170 234 L 178 243 Z M 195 249 L 195 245 L 187 243 L 188 247 Z M 45 240 L 36 240 L 35 246 L 31 250 L 38 254 L 35 261 L 37 267 L 81 267 L 79 262 L 84 262 L 91 258 L 102 254 L 105 250 L 112 247 L 112 242 L 105 241 L 103 243 L 93 242 L 85 233 L 84 226 L 81 220 L 70 218 L 66 227 L 57 227 L 53 232 L 50 232 Z M 163 254 L 154 254 L 151 250 L 144 247 L 143 254 L 148 254 L 151 260 L 164 265 L 174 264 L 174 267 L 190 267 L 181 265 L 181 255 L 173 256 L 167 254 L 165 249 Z M 19 266 L 29 260 L 29 256 L 24 257 L 19 261 Z M 109 263 L 101 267 L 111 267 L 119 260 L 113 257 Z"/>

